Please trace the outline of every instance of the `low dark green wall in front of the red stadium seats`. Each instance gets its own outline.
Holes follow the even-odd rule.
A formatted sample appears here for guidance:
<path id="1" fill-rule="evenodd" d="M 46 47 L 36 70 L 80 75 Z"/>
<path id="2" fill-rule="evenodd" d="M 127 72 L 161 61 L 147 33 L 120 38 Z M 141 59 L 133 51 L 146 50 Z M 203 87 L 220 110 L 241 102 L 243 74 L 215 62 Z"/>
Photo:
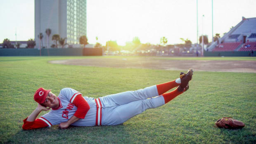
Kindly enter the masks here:
<path id="1" fill-rule="evenodd" d="M 254 54 L 255 56 L 256 54 Z M 204 51 L 204 57 L 250 57 L 251 52 L 206 52 Z"/>

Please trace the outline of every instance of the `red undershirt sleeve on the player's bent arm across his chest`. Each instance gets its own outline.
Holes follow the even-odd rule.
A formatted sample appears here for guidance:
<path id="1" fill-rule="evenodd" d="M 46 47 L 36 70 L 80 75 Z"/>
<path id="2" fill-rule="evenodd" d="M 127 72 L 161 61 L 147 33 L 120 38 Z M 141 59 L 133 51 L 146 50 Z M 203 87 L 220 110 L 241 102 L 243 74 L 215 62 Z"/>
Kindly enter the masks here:
<path id="1" fill-rule="evenodd" d="M 88 102 L 82 97 L 82 94 L 78 94 L 76 98 L 73 100 L 72 104 L 77 107 L 76 113 L 74 116 L 78 118 L 85 118 L 86 113 L 89 111 L 90 106 Z"/>

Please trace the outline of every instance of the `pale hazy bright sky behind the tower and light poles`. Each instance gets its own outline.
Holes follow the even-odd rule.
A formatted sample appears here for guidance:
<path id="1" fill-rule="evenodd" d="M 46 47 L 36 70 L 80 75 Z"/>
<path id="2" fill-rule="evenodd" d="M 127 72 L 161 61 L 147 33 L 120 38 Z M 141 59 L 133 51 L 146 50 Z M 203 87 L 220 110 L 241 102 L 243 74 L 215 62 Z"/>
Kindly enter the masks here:
<path id="1" fill-rule="evenodd" d="M 198 0 L 198 35 L 211 41 L 212 0 Z M 256 17 L 256 0 L 213 0 L 213 35 L 226 33 L 242 17 Z M 204 18 L 202 15 L 204 14 Z M 5 38 L 34 38 L 34 0 L 0 0 L 0 43 Z M 180 38 L 197 42 L 197 0 L 87 0 L 88 42 L 119 45 L 139 37 L 142 43 L 168 44 Z"/>

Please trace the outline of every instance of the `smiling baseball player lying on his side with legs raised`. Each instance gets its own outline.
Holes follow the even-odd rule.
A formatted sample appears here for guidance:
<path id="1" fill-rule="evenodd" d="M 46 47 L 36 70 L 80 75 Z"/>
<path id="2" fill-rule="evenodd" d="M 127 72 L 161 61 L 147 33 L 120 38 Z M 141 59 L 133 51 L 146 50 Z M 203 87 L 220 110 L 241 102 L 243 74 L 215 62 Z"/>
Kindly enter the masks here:
<path id="1" fill-rule="evenodd" d="M 119 125 L 147 109 L 162 106 L 185 92 L 192 73 L 192 69 L 189 69 L 186 74 L 180 73 L 180 78 L 167 83 L 97 99 L 83 97 L 80 92 L 71 88 L 62 89 L 57 97 L 50 90 L 40 87 L 34 94 L 38 106 L 23 120 L 22 128 L 31 130 L 52 125 L 59 125 L 60 128 L 67 128 L 69 125 Z M 166 93 L 177 86 L 172 92 Z M 37 118 L 41 111 L 50 109 L 50 112 Z"/>

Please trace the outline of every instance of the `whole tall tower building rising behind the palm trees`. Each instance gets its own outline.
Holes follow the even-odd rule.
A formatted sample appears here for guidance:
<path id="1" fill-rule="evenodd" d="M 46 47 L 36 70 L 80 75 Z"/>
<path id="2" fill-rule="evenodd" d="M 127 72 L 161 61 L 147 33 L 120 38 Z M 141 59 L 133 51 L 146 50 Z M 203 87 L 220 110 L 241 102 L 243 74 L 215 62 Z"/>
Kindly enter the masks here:
<path id="1" fill-rule="evenodd" d="M 35 0 L 36 48 L 39 48 L 40 33 L 43 34 L 41 47 L 48 47 L 47 28 L 51 29 L 49 47 L 55 44 L 54 34 L 67 38 L 65 42 L 69 45 L 79 44 L 79 38 L 86 35 L 86 0 Z"/>

